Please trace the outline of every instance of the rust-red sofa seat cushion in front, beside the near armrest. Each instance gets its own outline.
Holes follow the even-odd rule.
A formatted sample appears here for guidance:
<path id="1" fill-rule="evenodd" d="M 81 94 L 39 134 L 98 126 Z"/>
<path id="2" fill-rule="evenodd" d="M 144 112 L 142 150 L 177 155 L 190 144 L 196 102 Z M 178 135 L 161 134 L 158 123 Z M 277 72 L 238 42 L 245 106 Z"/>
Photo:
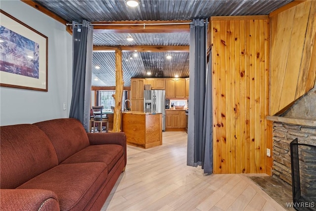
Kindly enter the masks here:
<path id="1" fill-rule="evenodd" d="M 62 164 L 34 177 L 18 189 L 53 191 L 61 211 L 83 210 L 108 177 L 104 163 Z"/>

